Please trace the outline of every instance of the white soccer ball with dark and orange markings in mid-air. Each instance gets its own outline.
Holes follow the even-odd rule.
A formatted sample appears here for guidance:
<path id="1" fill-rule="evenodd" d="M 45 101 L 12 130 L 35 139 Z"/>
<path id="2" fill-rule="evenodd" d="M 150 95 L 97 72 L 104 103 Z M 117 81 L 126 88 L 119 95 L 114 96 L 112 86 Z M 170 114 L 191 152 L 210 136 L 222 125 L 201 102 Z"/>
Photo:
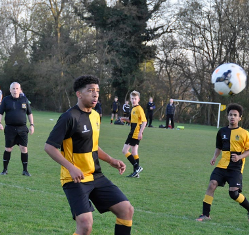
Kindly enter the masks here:
<path id="1" fill-rule="evenodd" d="M 212 74 L 214 90 L 222 96 L 236 95 L 243 91 L 246 79 L 244 69 L 233 63 L 220 65 Z"/>

